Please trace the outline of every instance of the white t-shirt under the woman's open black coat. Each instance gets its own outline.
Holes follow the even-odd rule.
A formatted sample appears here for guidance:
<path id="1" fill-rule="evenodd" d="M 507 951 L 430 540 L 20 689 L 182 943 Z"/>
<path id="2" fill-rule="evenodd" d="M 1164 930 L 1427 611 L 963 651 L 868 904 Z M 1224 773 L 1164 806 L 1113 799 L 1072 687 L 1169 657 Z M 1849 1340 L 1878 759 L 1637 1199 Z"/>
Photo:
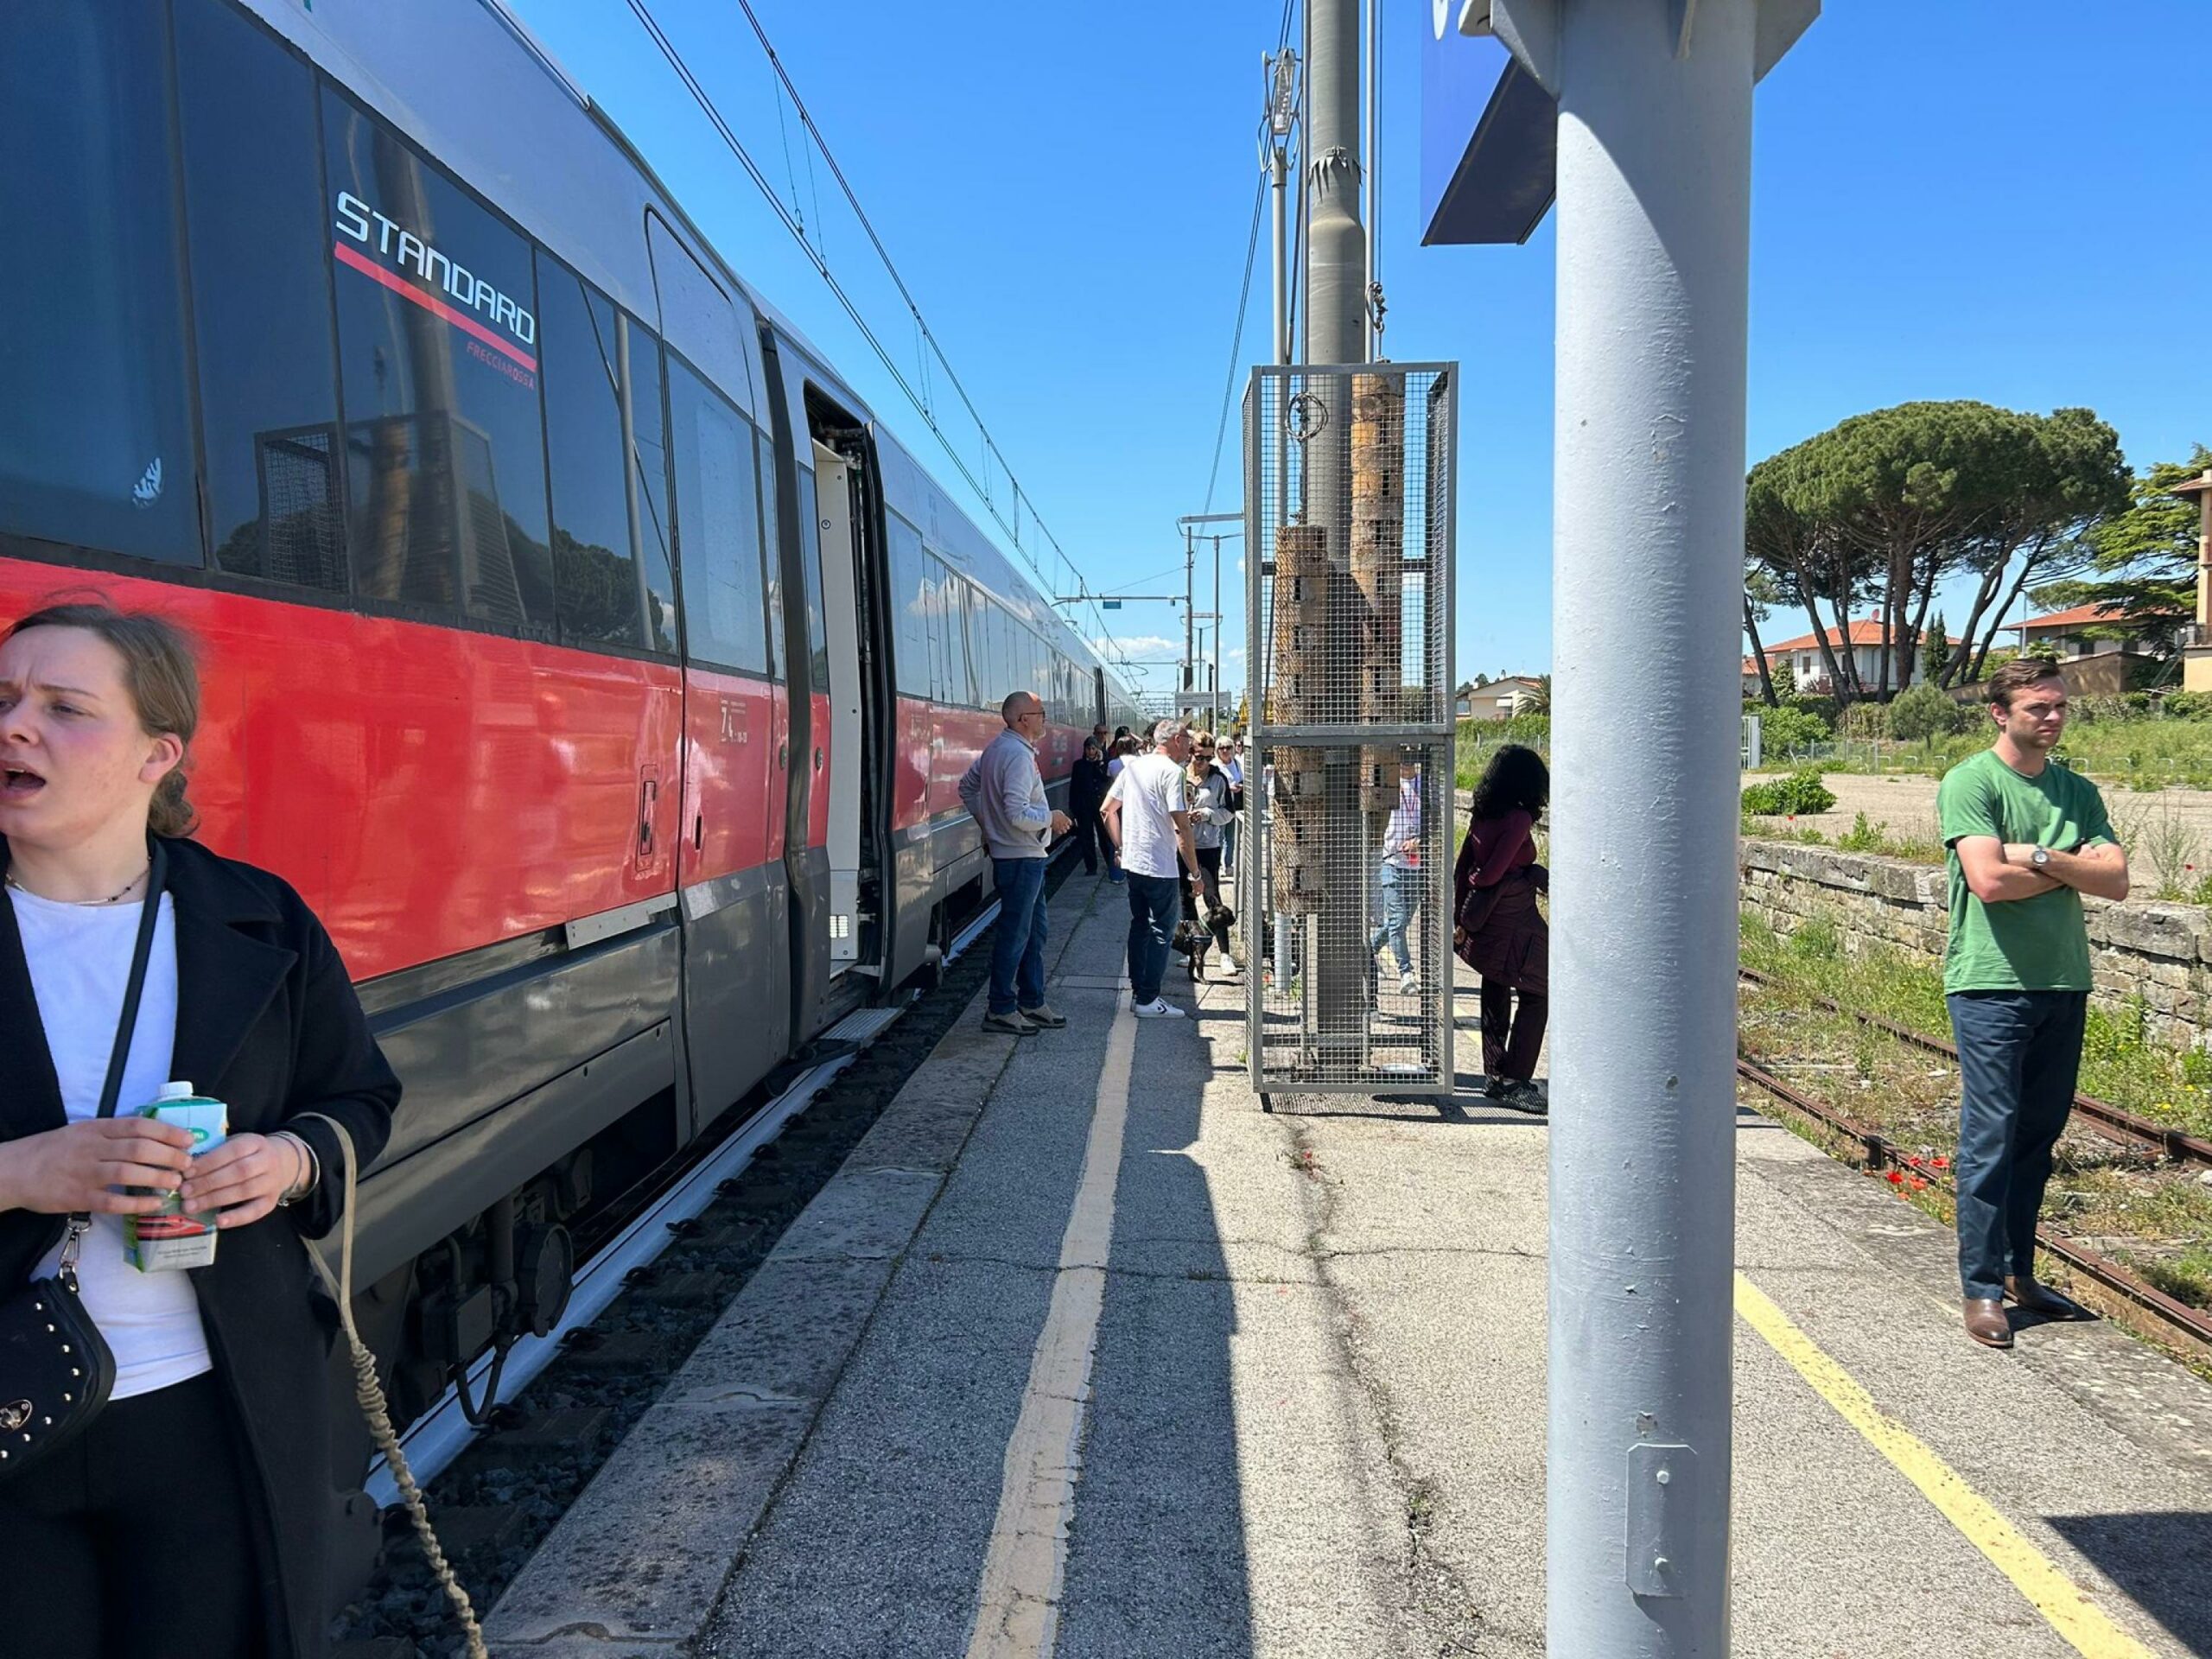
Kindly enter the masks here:
<path id="1" fill-rule="evenodd" d="M 142 905 L 58 905 L 20 887 L 9 887 L 9 898 L 15 900 L 15 927 L 31 964 L 31 989 L 38 993 L 40 1024 L 46 1026 L 46 1053 L 53 1055 L 53 1073 L 62 1084 L 62 1106 L 71 1124 L 97 1117 L 124 987 L 131 982 Z M 131 1057 L 115 1097 L 117 1117 L 161 1093 L 175 1042 L 177 905 L 161 894 Z M 60 1261 L 62 1248 L 55 1245 L 31 1276 L 53 1276 Z M 184 1272 L 142 1274 L 124 1261 L 122 1217 L 93 1217 L 93 1230 L 77 1248 L 77 1294 L 115 1352 L 111 1400 L 166 1389 L 212 1365 L 190 1279 Z"/>

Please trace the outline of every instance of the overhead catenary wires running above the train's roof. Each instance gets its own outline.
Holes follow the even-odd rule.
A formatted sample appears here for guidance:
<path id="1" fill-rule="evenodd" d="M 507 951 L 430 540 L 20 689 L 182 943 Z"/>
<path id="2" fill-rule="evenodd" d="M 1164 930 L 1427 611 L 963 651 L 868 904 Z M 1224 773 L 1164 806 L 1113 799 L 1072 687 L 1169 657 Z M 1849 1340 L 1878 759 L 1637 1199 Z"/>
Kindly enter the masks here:
<path id="1" fill-rule="evenodd" d="M 677 73 L 677 80 L 684 82 L 684 91 L 692 95 L 692 102 L 706 115 L 717 137 L 721 137 L 730 155 L 737 157 L 739 166 L 745 170 L 745 177 L 752 179 L 754 188 L 761 192 L 761 199 L 768 201 L 776 219 L 783 221 L 783 228 L 790 230 L 792 239 L 805 250 L 807 259 L 814 265 L 814 272 L 830 288 L 836 303 L 845 310 L 845 316 L 860 332 L 860 338 L 867 341 L 869 349 L 876 354 L 876 361 L 883 363 L 885 374 L 891 376 L 891 383 L 905 394 L 907 403 L 914 405 L 914 411 L 922 418 L 922 425 L 929 427 L 931 436 L 938 440 L 938 447 L 945 451 L 947 460 L 951 460 L 958 473 L 967 480 L 969 489 L 975 493 L 975 500 L 982 502 L 984 511 L 991 513 L 991 518 L 998 520 L 998 526 L 1006 531 L 1006 535 L 1013 540 L 1013 551 L 1022 557 L 1024 564 L 1029 564 L 1029 568 L 1037 575 L 1040 582 L 1046 582 L 1046 588 L 1053 586 L 1051 580 L 1044 575 L 1044 566 L 1037 564 L 1037 557 L 1022 542 L 1022 507 L 1026 502 L 1031 526 L 1053 549 L 1053 555 L 1066 568 L 1066 573 L 1075 577 L 1077 586 L 1082 586 L 1084 573 L 1075 566 L 1075 560 L 1068 557 L 1066 549 L 1060 546 L 1060 538 L 1053 535 L 1051 526 L 1037 513 L 1035 498 L 1031 498 L 1022 489 L 1022 482 L 1020 478 L 1015 478 L 1013 467 L 1006 465 L 1006 456 L 998 447 L 998 440 L 991 438 L 991 429 L 984 425 L 982 414 L 975 409 L 975 400 L 969 396 L 967 385 L 962 385 L 958 372 L 951 365 L 951 358 L 945 356 L 945 347 L 938 345 L 936 334 L 929 330 L 929 319 L 922 316 L 922 307 L 916 303 L 914 292 L 907 288 L 905 276 L 898 274 L 898 265 L 891 261 L 889 248 L 883 246 L 883 237 L 876 234 L 876 226 L 867 217 L 867 210 L 860 206 L 860 197 L 854 192 L 852 181 L 845 177 L 845 170 L 830 153 L 830 144 L 823 139 L 821 128 L 814 124 L 814 115 L 807 111 L 805 100 L 801 100 L 799 86 L 792 82 L 790 71 L 783 66 L 783 58 L 776 55 L 774 42 L 770 42 L 768 31 L 761 27 L 759 15 L 754 15 L 750 0 L 737 0 L 737 2 L 739 9 L 745 13 L 745 22 L 752 24 L 752 33 L 761 42 L 761 51 L 768 55 L 770 66 L 776 71 L 776 82 L 783 86 L 783 93 L 792 100 L 792 111 L 799 115 L 799 124 L 805 128 L 814 148 L 821 150 L 823 161 L 830 168 L 830 177 L 836 179 L 838 190 L 845 192 L 845 201 L 852 206 L 854 217 L 860 221 L 860 230 L 867 234 L 869 246 L 876 250 L 876 259 L 889 274 L 891 285 L 898 290 L 898 299 L 905 303 L 914 321 L 916 334 L 929 347 L 927 354 L 916 354 L 922 378 L 925 380 L 929 378 L 927 358 L 936 356 L 945 383 L 960 398 L 960 405 L 967 409 L 969 420 L 973 420 L 975 431 L 982 436 L 980 465 L 984 476 L 978 476 L 975 465 L 969 462 L 969 458 L 953 442 L 951 434 L 945 431 L 936 414 L 936 398 L 929 396 L 929 392 L 916 387 L 914 378 L 909 378 L 907 372 L 898 365 L 898 358 L 883 343 L 883 336 L 878 336 L 876 330 L 869 325 L 869 321 L 860 314 L 858 303 L 852 299 L 852 294 L 838 281 L 836 272 L 830 268 L 830 259 L 818 246 L 821 208 L 816 206 L 814 212 L 816 237 L 810 237 L 805 219 L 796 212 L 796 199 L 790 206 L 785 206 L 783 197 L 776 192 L 774 184 L 761 170 L 759 161 L 754 161 L 743 139 L 739 139 L 730 122 L 723 119 L 721 108 L 714 104 L 712 95 L 692 73 L 690 64 L 684 60 L 684 53 L 668 38 L 668 31 L 661 29 L 659 20 L 653 15 L 653 9 L 646 4 L 646 0 L 628 0 L 628 7 L 630 13 L 637 18 L 639 27 L 644 27 L 646 35 L 650 35 L 653 44 L 659 49 L 661 58 L 668 60 L 668 66 Z M 781 104 L 779 104 L 779 119 L 781 119 Z M 807 168 L 812 170 L 812 155 L 807 159 Z M 794 197 L 796 197 L 796 179 L 794 179 Z M 993 460 L 998 462 L 998 471 L 1002 471 L 1006 478 L 1009 487 L 1006 511 L 1000 509 L 998 493 L 991 489 L 989 482 L 989 471 Z M 1097 608 L 1097 602 L 1091 604 L 1091 613 L 1099 637 L 1110 639 L 1113 635 L 1106 628 L 1104 613 Z"/>

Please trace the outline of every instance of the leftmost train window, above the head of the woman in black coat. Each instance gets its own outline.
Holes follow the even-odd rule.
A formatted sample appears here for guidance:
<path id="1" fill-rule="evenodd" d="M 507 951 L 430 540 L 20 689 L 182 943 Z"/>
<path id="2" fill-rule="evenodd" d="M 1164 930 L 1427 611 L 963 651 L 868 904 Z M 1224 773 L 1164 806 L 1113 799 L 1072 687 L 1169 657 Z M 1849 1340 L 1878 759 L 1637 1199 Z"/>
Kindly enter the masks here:
<path id="1" fill-rule="evenodd" d="M 199 564 L 166 33 L 0 7 L 0 533 Z"/>

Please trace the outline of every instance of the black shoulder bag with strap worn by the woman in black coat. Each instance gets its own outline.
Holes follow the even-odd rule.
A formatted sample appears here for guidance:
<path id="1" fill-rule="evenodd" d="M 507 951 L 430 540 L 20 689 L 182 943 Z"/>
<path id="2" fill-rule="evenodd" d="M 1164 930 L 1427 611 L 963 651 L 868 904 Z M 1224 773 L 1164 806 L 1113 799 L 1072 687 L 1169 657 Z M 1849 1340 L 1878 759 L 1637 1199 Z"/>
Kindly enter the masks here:
<path id="1" fill-rule="evenodd" d="M 153 956 L 153 933 L 161 920 L 161 878 L 168 874 L 168 856 L 159 836 L 148 841 L 153 858 L 146 872 L 146 905 L 131 951 L 131 978 L 124 982 L 124 1011 L 115 1022 L 108 1077 L 100 1088 L 100 1117 L 115 1115 L 124 1066 L 131 1062 L 139 993 L 146 989 L 146 960 Z M 0 1484 L 15 1480 L 24 1469 L 35 1469 L 84 1433 L 115 1387 L 115 1354 L 77 1296 L 77 1252 L 91 1228 L 88 1212 L 69 1217 L 53 1279 L 33 1279 L 0 1298 Z"/>

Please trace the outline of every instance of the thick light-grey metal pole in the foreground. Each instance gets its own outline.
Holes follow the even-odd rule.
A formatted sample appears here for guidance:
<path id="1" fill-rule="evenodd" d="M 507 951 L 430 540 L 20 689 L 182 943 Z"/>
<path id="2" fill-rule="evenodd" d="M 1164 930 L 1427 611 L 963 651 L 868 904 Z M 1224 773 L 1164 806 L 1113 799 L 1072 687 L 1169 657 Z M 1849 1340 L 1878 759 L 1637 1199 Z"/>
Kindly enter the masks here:
<path id="1" fill-rule="evenodd" d="M 1546 1599 L 1551 1652 L 1604 1659 L 1730 1646 L 1759 0 L 1701 0 L 1694 40 L 1688 15 L 1544 7 L 1559 95 Z"/>

